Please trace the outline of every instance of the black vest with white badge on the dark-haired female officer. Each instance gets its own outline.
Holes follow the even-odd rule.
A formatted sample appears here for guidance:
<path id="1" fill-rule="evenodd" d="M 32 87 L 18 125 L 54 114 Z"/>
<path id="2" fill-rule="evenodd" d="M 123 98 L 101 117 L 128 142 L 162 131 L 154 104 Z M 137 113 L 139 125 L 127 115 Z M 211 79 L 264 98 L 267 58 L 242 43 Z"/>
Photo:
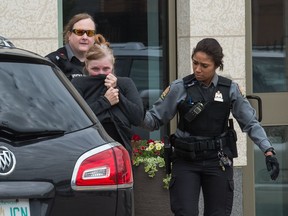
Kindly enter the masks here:
<path id="1" fill-rule="evenodd" d="M 192 136 L 219 136 L 228 129 L 231 101 L 229 97 L 231 80 L 219 76 L 218 84 L 214 89 L 213 97 L 205 99 L 200 92 L 198 82 L 195 82 L 194 74 L 183 78 L 187 90 L 186 99 L 178 106 L 180 120 L 178 128 L 189 132 Z M 194 83 L 191 84 L 191 81 Z M 191 108 L 197 103 L 204 104 L 204 109 L 192 121 L 184 116 L 191 112 Z M 193 108 L 192 108 L 193 109 Z"/>

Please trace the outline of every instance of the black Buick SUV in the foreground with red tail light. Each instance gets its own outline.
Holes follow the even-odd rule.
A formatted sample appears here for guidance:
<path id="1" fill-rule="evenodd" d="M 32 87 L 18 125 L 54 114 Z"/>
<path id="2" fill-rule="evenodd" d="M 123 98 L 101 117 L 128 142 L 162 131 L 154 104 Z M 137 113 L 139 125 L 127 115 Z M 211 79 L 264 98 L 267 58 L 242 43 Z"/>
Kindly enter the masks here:
<path id="1" fill-rule="evenodd" d="M 0 215 L 134 215 L 131 161 L 50 61 L 0 45 Z"/>

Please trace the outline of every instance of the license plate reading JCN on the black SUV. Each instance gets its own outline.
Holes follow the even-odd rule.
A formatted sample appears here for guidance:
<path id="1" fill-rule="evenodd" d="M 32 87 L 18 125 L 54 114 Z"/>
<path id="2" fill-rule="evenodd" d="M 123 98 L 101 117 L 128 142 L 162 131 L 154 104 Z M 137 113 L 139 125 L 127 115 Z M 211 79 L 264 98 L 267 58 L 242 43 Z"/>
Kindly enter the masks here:
<path id="1" fill-rule="evenodd" d="M 31 216 L 29 200 L 0 200 L 0 216 Z"/>

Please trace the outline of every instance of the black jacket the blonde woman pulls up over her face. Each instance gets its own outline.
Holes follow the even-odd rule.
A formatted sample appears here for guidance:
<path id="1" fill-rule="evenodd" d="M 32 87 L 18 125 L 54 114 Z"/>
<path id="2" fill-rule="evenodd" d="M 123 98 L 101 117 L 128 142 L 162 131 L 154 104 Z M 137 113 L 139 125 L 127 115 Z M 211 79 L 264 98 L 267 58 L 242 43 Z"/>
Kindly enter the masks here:
<path id="1" fill-rule="evenodd" d="M 100 122 L 111 121 L 114 123 L 123 144 L 131 153 L 131 125 L 139 126 L 143 120 L 144 108 L 138 90 L 128 77 L 117 77 L 119 89 L 119 103 L 111 106 L 104 97 L 107 87 L 104 85 L 106 76 L 76 77 L 71 82 L 80 95 L 91 107 Z"/>

